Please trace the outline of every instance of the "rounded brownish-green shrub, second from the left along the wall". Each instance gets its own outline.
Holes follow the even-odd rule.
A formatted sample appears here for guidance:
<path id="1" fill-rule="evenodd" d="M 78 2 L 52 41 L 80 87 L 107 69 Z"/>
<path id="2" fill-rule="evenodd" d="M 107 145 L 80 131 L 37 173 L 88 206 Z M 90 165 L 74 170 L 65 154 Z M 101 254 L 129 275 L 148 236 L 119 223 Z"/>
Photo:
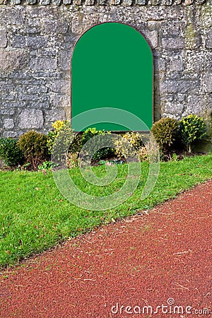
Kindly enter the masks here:
<path id="1" fill-rule="evenodd" d="M 44 134 L 28 131 L 20 136 L 17 144 L 23 151 L 25 159 L 33 165 L 34 169 L 37 169 L 42 161 L 49 159 L 47 136 Z"/>

